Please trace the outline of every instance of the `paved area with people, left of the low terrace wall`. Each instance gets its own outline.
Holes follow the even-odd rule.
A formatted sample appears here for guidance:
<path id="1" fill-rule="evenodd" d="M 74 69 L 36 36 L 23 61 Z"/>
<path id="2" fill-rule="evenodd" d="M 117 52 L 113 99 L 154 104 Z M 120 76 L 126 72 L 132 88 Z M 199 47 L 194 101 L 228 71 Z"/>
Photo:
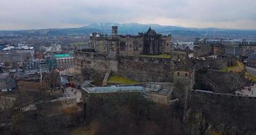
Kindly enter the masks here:
<path id="1" fill-rule="evenodd" d="M 72 98 L 76 97 L 76 102 L 81 101 L 81 92 L 80 90 L 72 87 L 66 88 L 66 90 L 63 92 L 63 97 Z"/>

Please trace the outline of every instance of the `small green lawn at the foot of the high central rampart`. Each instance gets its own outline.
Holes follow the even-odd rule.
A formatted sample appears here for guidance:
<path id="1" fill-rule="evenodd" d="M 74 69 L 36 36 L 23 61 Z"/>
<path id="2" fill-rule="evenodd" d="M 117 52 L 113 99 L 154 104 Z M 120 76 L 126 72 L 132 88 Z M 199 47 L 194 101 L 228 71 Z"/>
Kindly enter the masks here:
<path id="1" fill-rule="evenodd" d="M 118 83 L 118 84 L 136 84 L 135 80 L 130 80 L 128 78 L 125 78 L 124 76 L 111 76 L 109 80 L 107 80 L 108 83 Z"/>

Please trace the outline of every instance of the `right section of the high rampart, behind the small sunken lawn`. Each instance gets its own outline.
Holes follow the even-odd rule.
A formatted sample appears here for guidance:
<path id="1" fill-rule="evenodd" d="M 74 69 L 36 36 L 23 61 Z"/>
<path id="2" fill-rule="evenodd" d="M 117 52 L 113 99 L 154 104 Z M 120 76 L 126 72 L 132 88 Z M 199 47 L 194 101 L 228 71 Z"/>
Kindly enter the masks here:
<path id="1" fill-rule="evenodd" d="M 118 56 L 121 76 L 139 82 L 172 82 L 171 59 L 153 57 Z"/>

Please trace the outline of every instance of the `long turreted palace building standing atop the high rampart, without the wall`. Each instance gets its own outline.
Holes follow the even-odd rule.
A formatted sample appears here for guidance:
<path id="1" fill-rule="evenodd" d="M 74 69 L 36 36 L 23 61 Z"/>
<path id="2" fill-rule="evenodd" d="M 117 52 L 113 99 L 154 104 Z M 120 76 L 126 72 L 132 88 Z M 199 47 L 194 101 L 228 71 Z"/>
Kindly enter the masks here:
<path id="1" fill-rule="evenodd" d="M 172 36 L 157 34 L 151 27 L 136 36 L 118 34 L 118 26 L 112 26 L 112 34 L 90 35 L 90 47 L 97 53 L 116 52 L 119 55 L 159 55 L 170 54 Z"/>

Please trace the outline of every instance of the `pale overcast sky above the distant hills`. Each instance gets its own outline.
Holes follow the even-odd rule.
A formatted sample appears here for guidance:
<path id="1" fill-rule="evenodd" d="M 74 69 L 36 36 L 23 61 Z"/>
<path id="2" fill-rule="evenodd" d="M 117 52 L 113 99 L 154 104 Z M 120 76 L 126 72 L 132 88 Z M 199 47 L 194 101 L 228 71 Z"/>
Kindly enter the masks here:
<path id="1" fill-rule="evenodd" d="M 256 30 L 256 0 L 0 0 L 0 30 L 138 22 Z"/>

